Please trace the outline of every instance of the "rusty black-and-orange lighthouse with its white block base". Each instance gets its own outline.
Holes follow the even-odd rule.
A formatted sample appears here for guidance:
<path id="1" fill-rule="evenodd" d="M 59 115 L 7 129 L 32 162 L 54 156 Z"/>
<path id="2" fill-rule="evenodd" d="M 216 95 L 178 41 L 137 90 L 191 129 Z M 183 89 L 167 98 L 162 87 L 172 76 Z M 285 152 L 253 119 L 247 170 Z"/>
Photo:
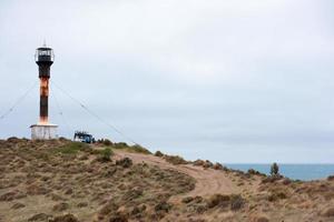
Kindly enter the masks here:
<path id="1" fill-rule="evenodd" d="M 49 123 L 49 79 L 50 67 L 53 63 L 55 54 L 51 48 L 46 43 L 38 48 L 35 54 L 36 63 L 39 69 L 40 80 L 40 101 L 39 101 L 39 122 L 31 125 L 32 140 L 57 139 L 58 125 Z"/>

